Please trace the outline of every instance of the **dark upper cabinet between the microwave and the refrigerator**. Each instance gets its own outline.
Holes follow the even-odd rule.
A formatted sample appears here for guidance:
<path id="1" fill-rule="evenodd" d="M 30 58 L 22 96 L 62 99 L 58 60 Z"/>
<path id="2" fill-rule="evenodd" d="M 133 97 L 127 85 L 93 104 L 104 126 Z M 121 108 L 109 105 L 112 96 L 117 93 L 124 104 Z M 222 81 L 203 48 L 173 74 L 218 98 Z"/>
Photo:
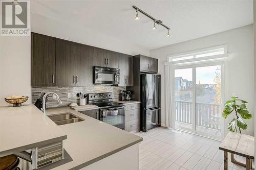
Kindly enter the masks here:
<path id="1" fill-rule="evenodd" d="M 133 56 L 119 54 L 119 86 L 133 86 Z"/>

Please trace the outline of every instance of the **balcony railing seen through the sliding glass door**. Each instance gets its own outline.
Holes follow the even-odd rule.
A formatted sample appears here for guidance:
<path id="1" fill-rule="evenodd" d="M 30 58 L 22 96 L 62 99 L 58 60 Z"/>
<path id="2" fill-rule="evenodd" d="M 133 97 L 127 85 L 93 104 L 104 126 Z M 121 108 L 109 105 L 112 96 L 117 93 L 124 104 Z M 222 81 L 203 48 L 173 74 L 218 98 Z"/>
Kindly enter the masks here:
<path id="1" fill-rule="evenodd" d="M 191 124 L 192 102 L 175 101 L 176 122 Z M 196 126 L 220 130 L 221 105 L 209 103 L 196 103 Z"/>

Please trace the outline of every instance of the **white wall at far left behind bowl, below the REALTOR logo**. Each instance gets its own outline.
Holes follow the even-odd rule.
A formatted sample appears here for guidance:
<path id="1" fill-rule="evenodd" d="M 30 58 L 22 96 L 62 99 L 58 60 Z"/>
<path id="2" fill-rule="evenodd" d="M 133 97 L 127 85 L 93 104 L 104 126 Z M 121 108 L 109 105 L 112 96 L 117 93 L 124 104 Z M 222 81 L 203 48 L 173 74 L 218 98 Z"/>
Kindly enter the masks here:
<path id="1" fill-rule="evenodd" d="M 30 36 L 0 37 L 0 106 L 9 95 L 27 95 L 31 103 Z"/>

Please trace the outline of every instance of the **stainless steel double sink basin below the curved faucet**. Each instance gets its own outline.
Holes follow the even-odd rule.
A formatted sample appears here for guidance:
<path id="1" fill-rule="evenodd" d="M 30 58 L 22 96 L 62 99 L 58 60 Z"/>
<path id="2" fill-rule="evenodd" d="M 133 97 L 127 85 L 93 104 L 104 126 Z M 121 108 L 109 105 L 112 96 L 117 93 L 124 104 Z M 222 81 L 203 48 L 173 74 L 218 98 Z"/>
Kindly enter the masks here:
<path id="1" fill-rule="evenodd" d="M 57 125 L 72 124 L 84 120 L 83 118 L 78 117 L 73 113 L 51 114 L 48 115 L 48 117 Z"/>

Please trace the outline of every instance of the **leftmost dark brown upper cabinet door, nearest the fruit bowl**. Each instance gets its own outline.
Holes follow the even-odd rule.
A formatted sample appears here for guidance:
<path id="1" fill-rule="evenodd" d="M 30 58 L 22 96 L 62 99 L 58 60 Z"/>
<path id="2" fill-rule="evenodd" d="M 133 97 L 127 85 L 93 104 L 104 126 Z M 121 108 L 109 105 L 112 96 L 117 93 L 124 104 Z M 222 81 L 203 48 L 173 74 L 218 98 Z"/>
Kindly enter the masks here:
<path id="1" fill-rule="evenodd" d="M 55 86 L 55 38 L 31 33 L 31 86 Z"/>

